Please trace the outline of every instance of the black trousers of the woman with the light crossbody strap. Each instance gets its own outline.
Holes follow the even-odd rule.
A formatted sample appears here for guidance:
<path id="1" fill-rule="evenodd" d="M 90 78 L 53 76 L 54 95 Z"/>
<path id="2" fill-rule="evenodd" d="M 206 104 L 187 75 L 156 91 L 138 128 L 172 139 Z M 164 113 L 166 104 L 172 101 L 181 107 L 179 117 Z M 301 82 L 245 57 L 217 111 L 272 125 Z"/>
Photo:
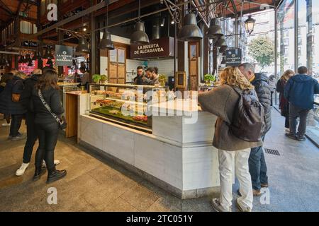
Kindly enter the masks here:
<path id="1" fill-rule="evenodd" d="M 39 138 L 39 148 L 35 154 L 35 167 L 41 167 L 43 159 L 50 170 L 55 167 L 55 145 L 59 126 L 56 122 L 50 124 L 35 124 Z"/>

